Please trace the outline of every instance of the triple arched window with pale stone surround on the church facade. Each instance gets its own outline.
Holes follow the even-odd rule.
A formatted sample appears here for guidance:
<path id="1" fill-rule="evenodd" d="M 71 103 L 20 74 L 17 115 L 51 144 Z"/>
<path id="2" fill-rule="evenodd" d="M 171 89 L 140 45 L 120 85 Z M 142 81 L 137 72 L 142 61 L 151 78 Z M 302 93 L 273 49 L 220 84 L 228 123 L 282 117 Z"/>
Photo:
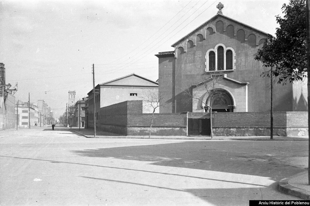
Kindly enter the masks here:
<path id="1" fill-rule="evenodd" d="M 215 49 L 209 49 L 206 53 L 206 70 L 205 71 L 219 71 L 219 70 L 233 70 L 235 51 L 223 44 L 218 44 Z"/>

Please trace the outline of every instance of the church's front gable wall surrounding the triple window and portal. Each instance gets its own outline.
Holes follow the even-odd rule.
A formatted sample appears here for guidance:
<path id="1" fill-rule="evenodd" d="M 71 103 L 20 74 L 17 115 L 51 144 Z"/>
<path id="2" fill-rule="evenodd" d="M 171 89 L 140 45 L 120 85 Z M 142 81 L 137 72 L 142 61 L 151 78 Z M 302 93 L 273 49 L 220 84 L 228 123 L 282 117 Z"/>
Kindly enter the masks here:
<path id="1" fill-rule="evenodd" d="M 175 47 L 176 112 L 191 112 L 192 103 L 188 102 L 188 99 L 191 98 L 184 91 L 190 89 L 191 85 L 196 85 L 207 79 L 211 74 L 216 73 L 205 72 L 205 55 L 208 49 L 214 49 L 219 43 L 224 44 L 225 47 L 231 47 L 235 51 L 235 71 L 225 71 L 227 77 L 250 83 L 248 86 L 248 111 L 268 111 L 270 107 L 270 82 L 269 78 L 260 76 L 268 68 L 262 67 L 262 63 L 254 60 L 257 50 L 263 45 L 264 38 L 266 36 L 262 33 L 242 27 L 240 24 L 227 19 L 218 18 L 177 45 Z M 292 87 L 289 86 L 284 88 L 277 85 L 276 89 L 275 99 L 277 101 L 288 100 L 287 95 L 292 93 Z M 285 95 L 277 97 L 283 91 L 285 91 Z M 290 105 L 291 103 L 288 103 L 288 106 L 284 108 L 277 105 L 278 108 L 275 109 L 279 111 L 282 109 L 289 110 Z"/>

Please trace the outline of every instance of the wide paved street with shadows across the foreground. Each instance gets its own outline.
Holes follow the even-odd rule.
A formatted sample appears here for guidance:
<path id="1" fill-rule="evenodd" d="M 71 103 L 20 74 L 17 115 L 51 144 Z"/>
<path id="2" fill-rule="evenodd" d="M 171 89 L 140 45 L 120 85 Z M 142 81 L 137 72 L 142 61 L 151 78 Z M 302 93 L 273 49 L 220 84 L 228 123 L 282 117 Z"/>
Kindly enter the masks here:
<path id="1" fill-rule="evenodd" d="M 299 200 L 308 141 L 92 139 L 65 127 L 0 131 L 0 205 L 248 205 Z"/>

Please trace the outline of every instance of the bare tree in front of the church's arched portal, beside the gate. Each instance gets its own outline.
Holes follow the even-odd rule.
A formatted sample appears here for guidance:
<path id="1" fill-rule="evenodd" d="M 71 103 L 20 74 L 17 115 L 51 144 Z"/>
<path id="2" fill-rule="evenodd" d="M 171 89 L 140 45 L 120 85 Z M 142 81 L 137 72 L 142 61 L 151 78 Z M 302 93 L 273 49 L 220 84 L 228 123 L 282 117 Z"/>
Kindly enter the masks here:
<path id="1" fill-rule="evenodd" d="M 201 96 L 201 90 L 199 92 L 193 92 L 193 90 L 186 90 L 185 92 L 190 97 L 188 101 L 192 101 L 192 99 L 196 99 L 201 105 L 204 105 L 204 109 L 206 112 L 210 113 L 210 129 L 211 129 L 211 139 L 213 138 L 213 127 L 212 127 L 212 102 L 219 98 L 220 101 L 224 100 L 224 95 L 221 89 L 217 89 L 219 86 L 219 82 L 223 79 L 224 75 L 211 75 L 210 78 L 203 80 L 200 84 L 201 90 L 203 90 L 203 95 Z M 197 86 L 192 86 L 197 87 Z M 207 93 L 208 98 L 204 99 L 203 96 Z"/>

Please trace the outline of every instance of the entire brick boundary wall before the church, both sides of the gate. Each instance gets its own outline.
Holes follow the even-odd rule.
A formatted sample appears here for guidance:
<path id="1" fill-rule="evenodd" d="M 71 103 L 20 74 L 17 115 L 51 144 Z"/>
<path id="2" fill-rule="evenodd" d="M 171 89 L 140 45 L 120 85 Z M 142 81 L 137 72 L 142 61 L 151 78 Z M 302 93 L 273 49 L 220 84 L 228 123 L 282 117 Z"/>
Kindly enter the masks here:
<path id="1" fill-rule="evenodd" d="M 142 100 L 124 101 L 100 108 L 97 128 L 122 135 L 148 135 L 152 114 L 142 113 Z M 151 135 L 186 136 L 188 118 L 210 118 L 207 113 L 155 113 Z M 93 127 L 93 122 L 89 122 Z M 212 114 L 215 136 L 270 135 L 269 112 Z M 308 135 L 308 112 L 274 112 L 274 135 Z"/>

